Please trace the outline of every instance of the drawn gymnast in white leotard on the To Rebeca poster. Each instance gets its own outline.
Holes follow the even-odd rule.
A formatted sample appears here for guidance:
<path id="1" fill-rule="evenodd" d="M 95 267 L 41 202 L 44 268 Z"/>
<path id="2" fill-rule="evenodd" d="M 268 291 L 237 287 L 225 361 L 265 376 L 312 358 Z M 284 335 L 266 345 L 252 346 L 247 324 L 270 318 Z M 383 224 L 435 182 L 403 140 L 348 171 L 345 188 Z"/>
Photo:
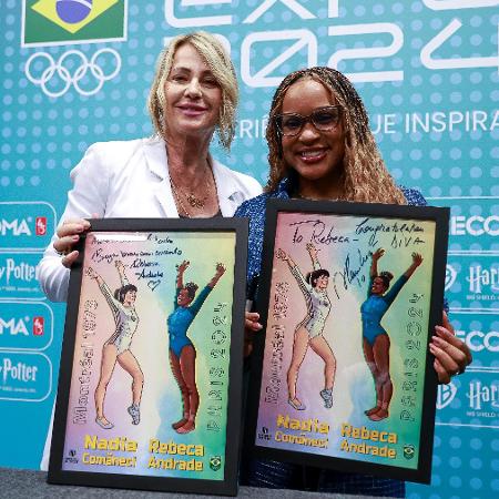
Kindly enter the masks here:
<path id="1" fill-rule="evenodd" d="M 322 268 L 317 259 L 318 251 L 312 243 L 306 245 L 312 259 L 313 271 L 303 276 L 293 258 L 278 248 L 276 256 L 287 262 L 291 273 L 298 283 L 305 296 L 307 313 L 305 318 L 296 326 L 293 340 L 293 355 L 287 370 L 288 404 L 296 410 L 305 410 L 306 406 L 296 395 L 298 373 L 308 347 L 324 360 L 324 389 L 320 397 L 327 409 L 333 407 L 333 385 L 335 383 L 336 358 L 323 336 L 324 326 L 330 312 L 330 301 L 327 295 L 329 272 Z"/>

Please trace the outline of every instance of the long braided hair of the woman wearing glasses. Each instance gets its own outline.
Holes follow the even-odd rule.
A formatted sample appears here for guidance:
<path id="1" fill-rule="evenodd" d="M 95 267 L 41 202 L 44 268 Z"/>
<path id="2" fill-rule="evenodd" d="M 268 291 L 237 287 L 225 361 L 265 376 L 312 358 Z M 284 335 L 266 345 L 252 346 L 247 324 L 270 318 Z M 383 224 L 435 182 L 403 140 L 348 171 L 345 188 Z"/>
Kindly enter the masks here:
<path id="1" fill-rule="evenodd" d="M 283 159 L 282 135 L 274 116 L 281 112 L 284 96 L 289 86 L 303 78 L 322 83 L 342 108 L 345 155 L 340 198 L 368 203 L 406 204 L 403 192 L 395 184 L 381 159 L 360 96 L 344 74 L 326 67 L 309 68 L 288 74 L 274 94 L 266 129 L 271 173 L 265 191 L 274 191 L 281 180 L 293 172 L 293 169 Z"/>

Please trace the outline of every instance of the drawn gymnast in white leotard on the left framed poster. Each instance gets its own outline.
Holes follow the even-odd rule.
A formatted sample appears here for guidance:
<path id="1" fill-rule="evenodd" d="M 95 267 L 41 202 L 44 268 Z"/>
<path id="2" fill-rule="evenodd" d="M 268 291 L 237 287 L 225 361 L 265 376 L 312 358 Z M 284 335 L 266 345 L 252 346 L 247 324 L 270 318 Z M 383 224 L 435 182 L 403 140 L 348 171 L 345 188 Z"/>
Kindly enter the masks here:
<path id="1" fill-rule="evenodd" d="M 141 398 L 144 386 L 144 375 L 138 359 L 130 350 L 133 335 L 139 325 L 139 316 L 135 312 L 136 286 L 130 284 L 122 262 L 114 263 L 120 275 L 121 287 L 114 294 L 104 279 L 89 267 L 88 275 L 99 284 L 108 305 L 113 313 L 115 329 L 111 337 L 102 346 L 101 375 L 95 388 L 95 422 L 103 429 L 111 429 L 114 425 L 104 416 L 104 399 L 109 381 L 118 364 L 132 377 L 132 405 L 128 408 L 132 417 L 132 424 L 139 425 L 141 420 Z"/>

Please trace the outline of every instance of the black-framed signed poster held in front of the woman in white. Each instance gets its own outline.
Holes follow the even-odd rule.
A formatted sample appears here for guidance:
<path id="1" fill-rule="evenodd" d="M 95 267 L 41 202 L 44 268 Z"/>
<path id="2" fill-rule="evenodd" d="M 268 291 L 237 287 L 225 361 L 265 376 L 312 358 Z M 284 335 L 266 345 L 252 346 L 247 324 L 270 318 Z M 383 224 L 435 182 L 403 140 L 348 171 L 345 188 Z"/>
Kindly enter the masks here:
<path id="1" fill-rule="evenodd" d="M 91 223 L 49 481 L 236 495 L 247 222 Z"/>

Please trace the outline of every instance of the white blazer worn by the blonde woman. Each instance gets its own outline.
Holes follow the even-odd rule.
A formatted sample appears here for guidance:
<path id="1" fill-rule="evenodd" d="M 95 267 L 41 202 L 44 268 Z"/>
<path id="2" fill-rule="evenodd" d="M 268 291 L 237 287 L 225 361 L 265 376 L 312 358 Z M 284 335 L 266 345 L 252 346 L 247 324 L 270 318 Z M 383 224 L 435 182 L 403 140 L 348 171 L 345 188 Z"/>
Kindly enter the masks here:
<path id="1" fill-rule="evenodd" d="M 262 193 L 255 179 L 212 161 L 218 205 L 232 216 L 243 201 Z M 179 217 L 169 175 L 166 147 L 161 139 L 98 142 L 71 171 L 73 189 L 61 222 L 68 218 Z M 39 264 L 43 293 L 52 302 L 64 302 L 69 269 L 52 244 Z"/>

